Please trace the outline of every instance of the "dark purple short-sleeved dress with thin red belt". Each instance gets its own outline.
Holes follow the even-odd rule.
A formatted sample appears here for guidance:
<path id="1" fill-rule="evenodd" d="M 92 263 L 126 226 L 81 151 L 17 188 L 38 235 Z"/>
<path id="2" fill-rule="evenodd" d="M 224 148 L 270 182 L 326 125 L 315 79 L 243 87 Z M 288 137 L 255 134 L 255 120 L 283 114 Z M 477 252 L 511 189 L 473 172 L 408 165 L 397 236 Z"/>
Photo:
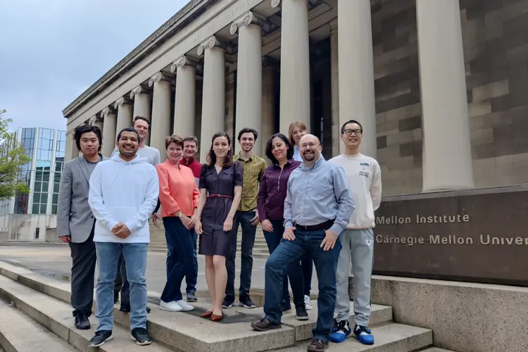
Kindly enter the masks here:
<path id="1" fill-rule="evenodd" d="M 224 232 L 224 221 L 231 210 L 234 187 L 241 186 L 244 179 L 244 166 L 238 161 L 229 168 L 216 172 L 214 165 L 202 165 L 200 173 L 200 189 L 207 189 L 206 205 L 201 212 L 199 254 L 204 256 L 227 256 L 230 245 L 237 241 L 237 229 Z"/>

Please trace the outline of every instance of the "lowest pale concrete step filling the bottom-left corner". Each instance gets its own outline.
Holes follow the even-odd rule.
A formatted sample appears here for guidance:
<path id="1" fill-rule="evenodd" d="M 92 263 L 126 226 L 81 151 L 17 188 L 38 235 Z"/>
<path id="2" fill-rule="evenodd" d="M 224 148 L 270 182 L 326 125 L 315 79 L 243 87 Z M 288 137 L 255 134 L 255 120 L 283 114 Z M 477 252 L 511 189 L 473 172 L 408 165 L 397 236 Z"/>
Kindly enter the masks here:
<path id="1" fill-rule="evenodd" d="M 4 352 L 78 352 L 14 306 L 0 301 L 0 346 Z"/>

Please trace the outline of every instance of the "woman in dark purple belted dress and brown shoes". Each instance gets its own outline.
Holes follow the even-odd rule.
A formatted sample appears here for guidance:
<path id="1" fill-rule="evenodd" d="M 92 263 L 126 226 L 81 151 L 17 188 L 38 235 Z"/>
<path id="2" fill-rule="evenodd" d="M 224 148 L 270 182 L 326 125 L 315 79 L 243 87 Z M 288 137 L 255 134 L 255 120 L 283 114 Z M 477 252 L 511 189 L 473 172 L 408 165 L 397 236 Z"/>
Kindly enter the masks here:
<path id="1" fill-rule="evenodd" d="M 213 144 L 202 165 L 200 203 L 195 225 L 200 236 L 199 254 L 206 256 L 206 280 L 213 307 L 202 318 L 223 318 L 222 298 L 227 284 L 225 258 L 236 243 L 234 216 L 240 203 L 244 167 L 233 161 L 231 139 L 224 132 L 213 136 Z"/>

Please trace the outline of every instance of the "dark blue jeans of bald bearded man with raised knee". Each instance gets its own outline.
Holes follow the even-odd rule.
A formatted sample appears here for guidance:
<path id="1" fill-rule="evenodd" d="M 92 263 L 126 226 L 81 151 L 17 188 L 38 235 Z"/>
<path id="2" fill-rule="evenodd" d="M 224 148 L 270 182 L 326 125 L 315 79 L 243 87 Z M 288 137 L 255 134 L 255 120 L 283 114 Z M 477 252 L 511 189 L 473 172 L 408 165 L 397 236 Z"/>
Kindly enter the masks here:
<path id="1" fill-rule="evenodd" d="M 329 341 L 332 320 L 336 308 L 336 270 L 341 241 L 338 238 L 333 249 L 324 251 L 320 245 L 325 239 L 325 230 L 295 230 L 294 241 L 281 239 L 279 246 L 266 261 L 265 268 L 265 318 L 279 323 L 282 317 L 282 282 L 286 268 L 298 262 L 305 253 L 313 258 L 319 282 L 318 321 L 312 329 L 313 337 Z"/>

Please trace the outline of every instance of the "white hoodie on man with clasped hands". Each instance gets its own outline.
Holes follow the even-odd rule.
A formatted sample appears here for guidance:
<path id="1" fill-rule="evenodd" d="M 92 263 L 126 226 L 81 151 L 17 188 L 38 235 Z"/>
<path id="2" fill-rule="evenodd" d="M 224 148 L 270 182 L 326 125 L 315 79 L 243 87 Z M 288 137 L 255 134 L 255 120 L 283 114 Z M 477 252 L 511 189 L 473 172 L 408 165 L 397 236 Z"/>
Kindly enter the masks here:
<path id="1" fill-rule="evenodd" d="M 156 168 L 146 158 L 124 161 L 119 154 L 98 163 L 90 177 L 88 203 L 96 218 L 94 241 L 149 243 L 149 218 L 156 208 L 159 180 Z M 130 236 L 112 234 L 124 222 Z"/>

